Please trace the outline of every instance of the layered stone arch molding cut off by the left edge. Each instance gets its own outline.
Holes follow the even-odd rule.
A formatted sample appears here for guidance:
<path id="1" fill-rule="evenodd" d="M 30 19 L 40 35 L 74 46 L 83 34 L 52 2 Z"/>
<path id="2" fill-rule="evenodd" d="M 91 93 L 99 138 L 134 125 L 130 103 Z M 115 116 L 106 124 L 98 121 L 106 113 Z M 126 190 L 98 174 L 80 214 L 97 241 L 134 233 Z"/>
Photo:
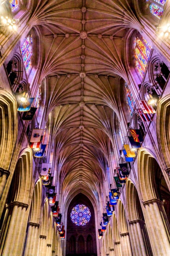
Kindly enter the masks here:
<path id="1" fill-rule="evenodd" d="M 17 105 L 15 98 L 3 89 L 0 89 L 0 118 L 0 168 L 8 170 L 17 138 Z"/>

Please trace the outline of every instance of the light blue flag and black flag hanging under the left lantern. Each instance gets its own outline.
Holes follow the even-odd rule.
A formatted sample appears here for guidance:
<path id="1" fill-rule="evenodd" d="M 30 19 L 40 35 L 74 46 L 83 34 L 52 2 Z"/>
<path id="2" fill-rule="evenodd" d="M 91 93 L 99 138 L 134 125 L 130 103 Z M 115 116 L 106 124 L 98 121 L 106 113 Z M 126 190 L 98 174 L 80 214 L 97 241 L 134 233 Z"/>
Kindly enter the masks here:
<path id="1" fill-rule="evenodd" d="M 35 98 L 29 98 L 26 103 L 20 103 L 18 111 L 23 112 L 22 120 L 32 120 L 33 116 L 38 108 L 31 107 L 32 102 Z"/>

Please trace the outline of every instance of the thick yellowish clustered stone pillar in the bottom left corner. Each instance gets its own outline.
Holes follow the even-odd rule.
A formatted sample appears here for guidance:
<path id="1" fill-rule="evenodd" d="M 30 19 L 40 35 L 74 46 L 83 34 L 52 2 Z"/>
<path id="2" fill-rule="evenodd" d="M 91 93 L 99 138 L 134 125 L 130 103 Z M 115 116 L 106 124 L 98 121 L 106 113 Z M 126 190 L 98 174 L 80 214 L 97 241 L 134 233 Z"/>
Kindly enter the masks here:
<path id="1" fill-rule="evenodd" d="M 13 210 L 8 216 L 8 227 L 6 227 L 6 237 L 2 249 L 2 255 L 20 256 L 23 252 L 25 240 L 27 218 L 26 210 L 28 204 L 14 201 L 11 203 Z"/>

